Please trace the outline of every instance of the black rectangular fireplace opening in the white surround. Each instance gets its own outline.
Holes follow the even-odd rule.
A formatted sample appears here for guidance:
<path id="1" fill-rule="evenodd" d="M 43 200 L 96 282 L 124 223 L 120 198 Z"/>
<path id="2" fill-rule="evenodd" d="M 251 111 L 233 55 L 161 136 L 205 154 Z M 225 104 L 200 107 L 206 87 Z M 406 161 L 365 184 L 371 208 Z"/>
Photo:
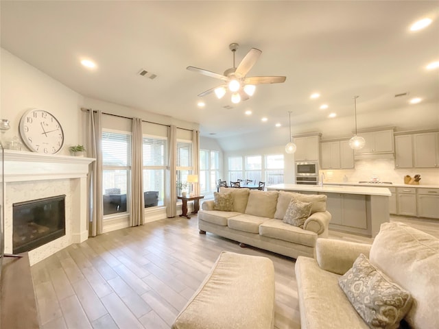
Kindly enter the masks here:
<path id="1" fill-rule="evenodd" d="M 65 195 L 12 204 L 12 249 L 28 252 L 66 234 Z"/>

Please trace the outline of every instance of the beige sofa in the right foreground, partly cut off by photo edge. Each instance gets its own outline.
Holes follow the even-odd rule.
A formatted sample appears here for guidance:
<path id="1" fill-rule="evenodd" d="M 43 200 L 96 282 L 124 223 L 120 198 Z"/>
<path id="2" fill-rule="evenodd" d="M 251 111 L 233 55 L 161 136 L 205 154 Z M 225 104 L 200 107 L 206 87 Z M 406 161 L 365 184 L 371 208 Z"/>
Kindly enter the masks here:
<path id="1" fill-rule="evenodd" d="M 400 328 L 439 328 L 439 239 L 403 223 L 383 223 L 372 245 L 318 239 L 316 258 L 299 257 L 296 260 L 302 329 L 375 328 L 369 327 L 360 317 L 353 304 L 360 307 L 361 312 L 361 303 L 351 304 L 338 282 L 353 267 L 359 254 L 367 256 L 378 273 L 388 277 L 387 282 L 397 284 L 411 294 L 412 302 L 407 306 L 407 315 L 401 314 L 404 326 Z M 352 278 L 353 273 L 349 271 L 344 278 Z M 370 299 L 367 301 L 370 305 L 382 305 L 379 304 L 382 300 L 391 300 L 383 297 L 383 290 L 370 291 L 368 287 L 364 287 L 364 291 L 368 292 L 366 297 Z M 371 295 L 377 299 L 372 300 Z M 399 293 L 397 296 L 399 298 Z M 392 314 L 388 310 L 383 313 Z M 382 328 L 399 328 L 398 325 L 399 321 L 396 326 Z"/>

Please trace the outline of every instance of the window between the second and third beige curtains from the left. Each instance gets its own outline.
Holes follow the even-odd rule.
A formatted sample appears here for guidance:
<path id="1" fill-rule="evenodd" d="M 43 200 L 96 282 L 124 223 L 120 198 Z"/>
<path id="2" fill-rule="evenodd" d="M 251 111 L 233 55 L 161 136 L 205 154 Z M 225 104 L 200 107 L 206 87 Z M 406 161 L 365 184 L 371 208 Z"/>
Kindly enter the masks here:
<path id="1" fill-rule="evenodd" d="M 165 204 L 166 138 L 143 136 L 143 193 L 145 208 Z"/>

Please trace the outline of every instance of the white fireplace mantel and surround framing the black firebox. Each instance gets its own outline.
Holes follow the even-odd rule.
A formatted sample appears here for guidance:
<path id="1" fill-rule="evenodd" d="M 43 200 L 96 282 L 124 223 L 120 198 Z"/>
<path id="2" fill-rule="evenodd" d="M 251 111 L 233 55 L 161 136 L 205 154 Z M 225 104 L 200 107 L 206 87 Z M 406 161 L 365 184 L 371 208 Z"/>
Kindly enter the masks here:
<path id="1" fill-rule="evenodd" d="M 66 236 L 29 252 L 31 265 L 67 247 L 88 239 L 87 174 L 94 158 L 39 154 L 29 151 L 3 151 L 5 193 L 5 252 L 12 252 L 12 204 L 47 197 L 47 193 L 66 194 L 69 229 Z M 67 225 L 67 224 L 66 224 Z"/>

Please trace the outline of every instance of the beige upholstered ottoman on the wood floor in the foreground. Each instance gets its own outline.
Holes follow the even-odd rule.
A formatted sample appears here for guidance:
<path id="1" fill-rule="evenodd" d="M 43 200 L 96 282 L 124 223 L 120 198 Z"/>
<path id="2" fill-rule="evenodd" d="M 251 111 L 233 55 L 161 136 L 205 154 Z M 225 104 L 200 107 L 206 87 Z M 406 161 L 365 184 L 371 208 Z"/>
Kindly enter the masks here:
<path id="1" fill-rule="evenodd" d="M 274 328 L 272 261 L 222 252 L 172 328 Z"/>

